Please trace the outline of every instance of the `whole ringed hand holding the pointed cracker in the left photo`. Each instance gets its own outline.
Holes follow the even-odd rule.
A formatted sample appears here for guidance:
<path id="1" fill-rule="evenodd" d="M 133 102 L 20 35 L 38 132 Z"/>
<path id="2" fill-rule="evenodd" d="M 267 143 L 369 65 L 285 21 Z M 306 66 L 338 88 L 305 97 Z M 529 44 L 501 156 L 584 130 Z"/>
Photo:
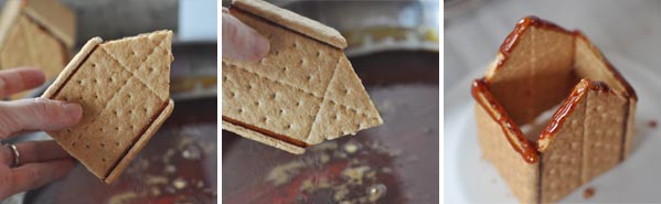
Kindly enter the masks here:
<path id="1" fill-rule="evenodd" d="M 6 97 L 45 80 L 35 68 L 0 71 L 0 97 Z M 57 130 L 76 125 L 83 117 L 81 105 L 45 98 L 0 101 L 0 140 L 17 132 Z M 73 160 L 54 141 L 26 141 L 0 146 L 0 201 L 19 192 L 57 180 L 74 167 Z"/>

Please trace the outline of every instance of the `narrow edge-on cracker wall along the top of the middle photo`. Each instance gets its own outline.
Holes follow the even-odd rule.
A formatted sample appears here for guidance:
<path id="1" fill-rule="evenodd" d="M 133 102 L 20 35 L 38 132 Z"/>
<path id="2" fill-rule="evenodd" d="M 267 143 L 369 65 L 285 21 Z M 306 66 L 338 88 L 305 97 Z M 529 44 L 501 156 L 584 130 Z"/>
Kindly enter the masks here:
<path id="1" fill-rule="evenodd" d="M 233 0 L 232 7 L 237 7 L 338 49 L 347 47 L 347 40 L 337 30 L 268 2 L 262 0 Z"/>

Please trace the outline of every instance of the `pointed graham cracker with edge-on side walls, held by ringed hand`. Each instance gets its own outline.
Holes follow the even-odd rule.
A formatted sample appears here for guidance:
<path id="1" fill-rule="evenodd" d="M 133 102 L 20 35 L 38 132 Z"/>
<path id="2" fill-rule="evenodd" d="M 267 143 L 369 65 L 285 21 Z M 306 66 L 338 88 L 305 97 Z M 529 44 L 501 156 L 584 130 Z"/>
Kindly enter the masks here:
<path id="1" fill-rule="evenodd" d="M 78 103 L 78 125 L 49 132 L 111 183 L 170 116 L 171 31 L 89 40 L 42 97 Z"/>

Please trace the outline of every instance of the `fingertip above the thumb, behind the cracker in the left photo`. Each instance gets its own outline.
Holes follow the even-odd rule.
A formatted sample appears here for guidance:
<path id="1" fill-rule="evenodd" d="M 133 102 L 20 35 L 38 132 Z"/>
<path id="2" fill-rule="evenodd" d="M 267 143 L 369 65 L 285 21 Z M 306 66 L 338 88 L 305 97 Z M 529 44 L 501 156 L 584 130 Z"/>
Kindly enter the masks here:
<path id="1" fill-rule="evenodd" d="M 0 71 L 0 97 L 38 87 L 44 83 L 45 78 L 44 73 L 38 68 Z"/>

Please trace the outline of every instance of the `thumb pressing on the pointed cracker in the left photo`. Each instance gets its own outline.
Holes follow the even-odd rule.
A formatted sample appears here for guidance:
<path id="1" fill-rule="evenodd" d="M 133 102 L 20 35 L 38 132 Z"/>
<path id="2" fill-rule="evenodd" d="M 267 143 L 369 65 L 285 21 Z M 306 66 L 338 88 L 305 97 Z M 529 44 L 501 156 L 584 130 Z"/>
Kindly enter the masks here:
<path id="1" fill-rule="evenodd" d="M 21 130 L 58 130 L 76 125 L 83 117 L 81 105 L 30 98 L 0 103 L 0 139 Z"/>

